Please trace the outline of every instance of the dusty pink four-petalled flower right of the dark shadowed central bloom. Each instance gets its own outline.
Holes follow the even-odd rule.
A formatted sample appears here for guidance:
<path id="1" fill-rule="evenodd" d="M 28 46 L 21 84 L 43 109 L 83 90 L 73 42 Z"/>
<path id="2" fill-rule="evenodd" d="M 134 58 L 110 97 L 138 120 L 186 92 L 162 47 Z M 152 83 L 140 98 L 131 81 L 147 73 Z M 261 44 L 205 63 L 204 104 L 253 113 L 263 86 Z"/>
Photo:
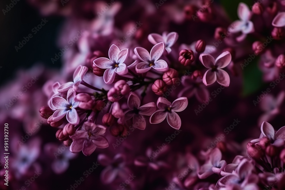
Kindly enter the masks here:
<path id="1" fill-rule="evenodd" d="M 181 127 L 181 119 L 176 112 L 183 111 L 187 105 L 188 99 L 186 97 L 177 98 L 172 103 L 166 98 L 159 97 L 157 100 L 159 110 L 150 116 L 149 122 L 151 124 L 157 124 L 167 118 L 167 122 L 172 128 L 179 129 Z"/>

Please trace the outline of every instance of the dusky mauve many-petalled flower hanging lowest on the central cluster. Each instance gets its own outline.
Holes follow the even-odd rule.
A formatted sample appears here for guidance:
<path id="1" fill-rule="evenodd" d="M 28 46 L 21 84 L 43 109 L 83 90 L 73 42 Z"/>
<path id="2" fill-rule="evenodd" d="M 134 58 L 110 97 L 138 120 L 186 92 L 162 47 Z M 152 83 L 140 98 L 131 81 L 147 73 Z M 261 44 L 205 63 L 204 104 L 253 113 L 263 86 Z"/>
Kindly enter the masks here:
<path id="1" fill-rule="evenodd" d="M 85 122 L 82 128 L 71 136 L 73 142 L 70 145 L 70 152 L 82 151 L 85 156 L 90 156 L 96 147 L 107 148 L 108 140 L 102 136 L 105 132 L 104 126 L 89 121 Z"/>

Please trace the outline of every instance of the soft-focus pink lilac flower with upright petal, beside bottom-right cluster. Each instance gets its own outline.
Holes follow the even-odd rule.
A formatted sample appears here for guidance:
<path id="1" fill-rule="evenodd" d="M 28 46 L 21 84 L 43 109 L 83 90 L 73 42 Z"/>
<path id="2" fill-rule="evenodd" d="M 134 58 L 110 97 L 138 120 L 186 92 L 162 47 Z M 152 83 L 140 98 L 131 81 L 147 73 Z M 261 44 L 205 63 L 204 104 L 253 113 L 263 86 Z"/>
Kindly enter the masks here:
<path id="1" fill-rule="evenodd" d="M 221 159 L 222 153 L 220 149 L 213 149 L 209 154 L 209 158 L 206 163 L 200 167 L 198 177 L 200 179 L 205 179 L 214 173 L 220 174 L 227 165 L 226 161 Z"/>

